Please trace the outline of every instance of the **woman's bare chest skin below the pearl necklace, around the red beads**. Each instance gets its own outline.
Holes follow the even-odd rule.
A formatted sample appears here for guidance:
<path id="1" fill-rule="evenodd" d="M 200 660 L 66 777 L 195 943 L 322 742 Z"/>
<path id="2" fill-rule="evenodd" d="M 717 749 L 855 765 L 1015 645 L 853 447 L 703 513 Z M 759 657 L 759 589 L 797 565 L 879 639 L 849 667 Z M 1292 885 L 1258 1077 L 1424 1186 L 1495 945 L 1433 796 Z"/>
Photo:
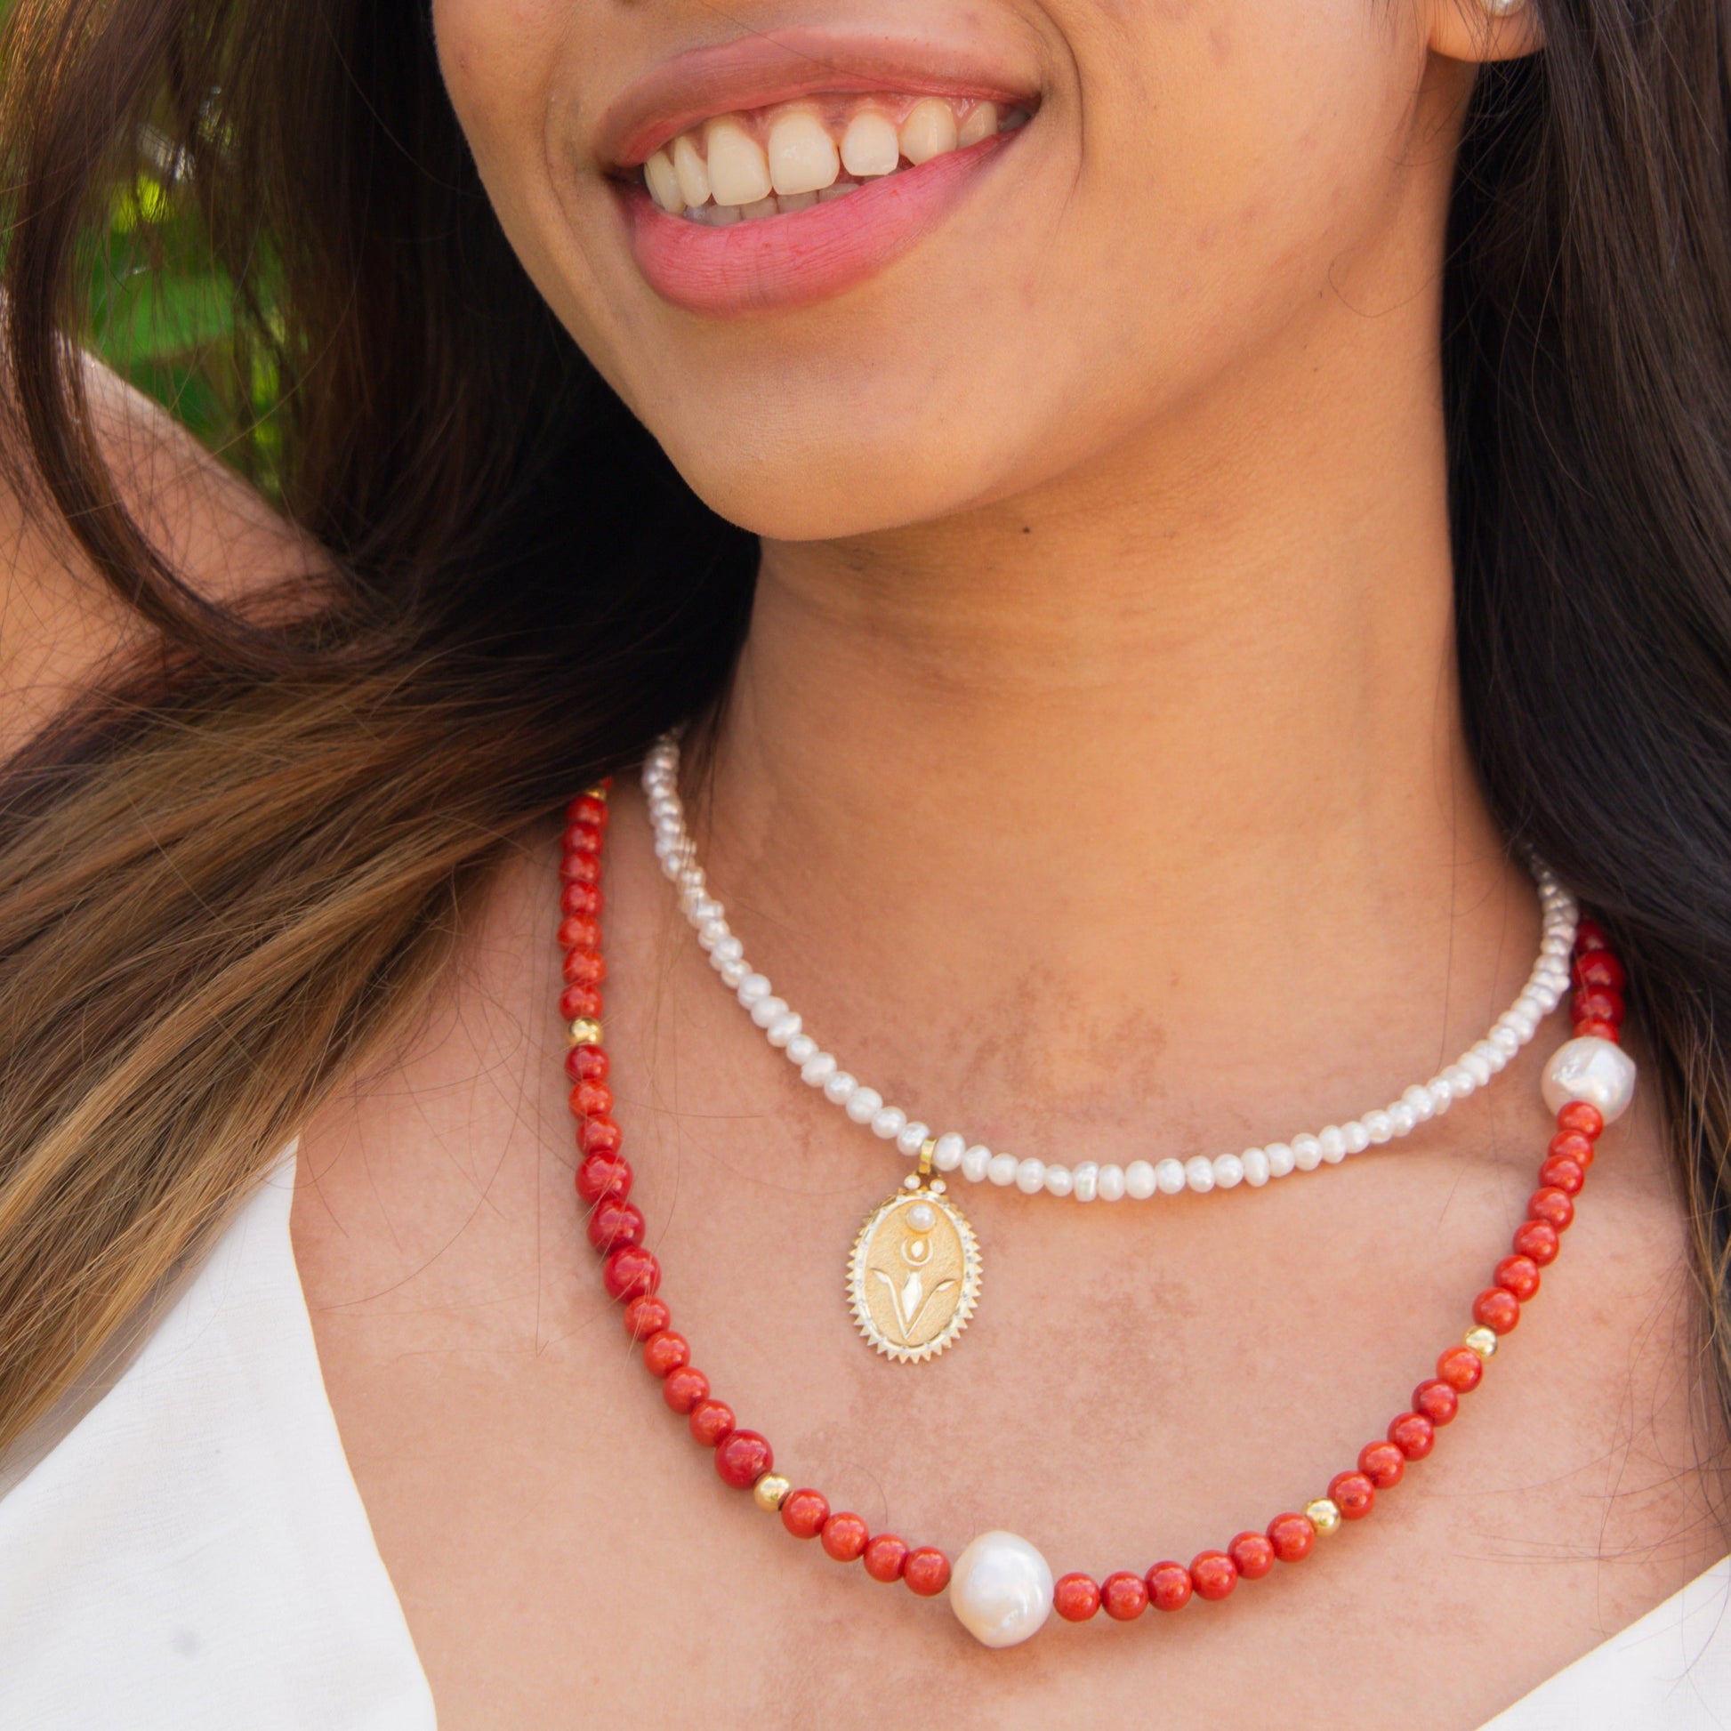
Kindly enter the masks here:
<path id="1" fill-rule="evenodd" d="M 1722 1551 L 1693 1473 L 1683 1231 L 1631 1122 L 1541 1302 L 1367 1520 L 1226 1601 L 988 1651 L 942 1599 L 789 1537 L 666 1407 L 583 1239 L 559 1028 L 528 1007 L 550 995 L 462 999 L 303 1148 L 325 1380 L 447 1726 L 1009 1728 L 1151 1702 L 1477 1726 Z M 715 1393 L 872 1532 L 954 1558 L 1002 1527 L 1094 1579 L 1220 1548 L 1352 1466 L 1459 1338 L 1544 1141 L 1511 1089 L 1435 1148 L 1257 1196 L 1137 1212 L 968 1186 L 980 1310 L 902 1366 L 843 1291 L 902 1163 L 718 1040 L 698 1023 L 654 1063 L 644 1044 L 616 1089 Z"/>

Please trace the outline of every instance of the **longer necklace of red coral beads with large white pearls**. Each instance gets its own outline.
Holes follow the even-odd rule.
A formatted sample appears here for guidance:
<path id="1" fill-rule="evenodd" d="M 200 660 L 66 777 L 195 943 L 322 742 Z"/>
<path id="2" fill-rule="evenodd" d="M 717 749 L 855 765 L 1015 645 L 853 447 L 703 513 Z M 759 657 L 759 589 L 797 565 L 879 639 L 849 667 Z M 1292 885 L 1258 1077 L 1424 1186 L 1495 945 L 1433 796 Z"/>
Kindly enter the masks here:
<path id="1" fill-rule="evenodd" d="M 1052 1612 L 1087 1622 L 1104 1612 L 1120 1622 L 1182 1610 L 1193 1598 L 1224 1599 L 1239 1580 L 1258 1580 L 1276 1563 L 1300 1563 L 1319 1539 L 1364 1520 L 1380 1492 L 1393 1490 L 1411 1464 L 1437 1444 L 1463 1397 L 1483 1380 L 1497 1343 L 1520 1322 L 1522 1307 L 1539 1293 L 1542 1271 L 1558 1257 L 1575 1201 L 1593 1168 L 1598 1137 L 1629 1108 L 1634 1065 L 1622 1051 L 1625 976 L 1605 933 L 1593 921 L 1573 931 L 1572 1009 L 1575 1037 L 1551 1058 L 1542 1092 L 1556 1115 L 1539 1167 L 1539 1184 L 1516 1229 L 1511 1253 L 1492 1269 L 1471 1303 L 1471 1326 L 1447 1347 L 1435 1371 L 1412 1390 L 1383 1437 L 1367 1442 L 1352 1466 L 1297 1511 L 1276 1515 L 1260 1530 L 1245 1530 L 1220 1549 L 1189 1563 L 1158 1561 L 1144 1573 L 1122 1570 L 1096 1580 L 1087 1573 L 1052 1579 L 1051 1565 L 1026 1539 L 985 1532 L 950 1561 L 936 1546 L 909 1544 L 897 1534 L 872 1534 L 859 1515 L 831 1509 L 820 1490 L 795 1487 L 775 1471 L 767 1438 L 737 1423 L 734 1409 L 713 1395 L 692 1364 L 691 1343 L 673 1328 L 661 1297 L 661 1265 L 646 1246 L 642 1210 L 630 1200 L 632 1168 L 613 1116 L 608 1052 L 602 1044 L 601 852 L 608 833 L 608 786 L 587 789 L 566 810 L 559 876 L 563 881 L 559 947 L 569 1025 L 566 1075 L 576 1118 L 576 1194 L 587 1208 L 585 1229 L 601 1255 L 608 1297 L 623 1307 L 625 1329 L 642 1347 L 646 1371 L 661 1383 L 661 1399 L 680 1414 L 692 1440 L 710 1449 L 724 1483 L 750 1490 L 760 1508 L 779 1515 L 795 1539 L 815 1539 L 838 1563 L 860 1563 L 872 1580 L 904 1582 L 923 1598 L 949 1594 L 961 1624 L 987 1646 L 1013 1646 L 1035 1634 Z M 930 1182 L 930 1162 L 926 1179 Z M 912 1184 L 923 1181 L 912 1179 Z M 909 1194 L 914 1194 L 912 1191 Z M 919 1189 L 926 1196 L 924 1187 Z M 938 1193 L 942 1194 L 942 1193 Z M 893 1203 L 902 1198 L 893 1198 Z M 862 1234 L 864 1236 L 864 1234 Z"/>

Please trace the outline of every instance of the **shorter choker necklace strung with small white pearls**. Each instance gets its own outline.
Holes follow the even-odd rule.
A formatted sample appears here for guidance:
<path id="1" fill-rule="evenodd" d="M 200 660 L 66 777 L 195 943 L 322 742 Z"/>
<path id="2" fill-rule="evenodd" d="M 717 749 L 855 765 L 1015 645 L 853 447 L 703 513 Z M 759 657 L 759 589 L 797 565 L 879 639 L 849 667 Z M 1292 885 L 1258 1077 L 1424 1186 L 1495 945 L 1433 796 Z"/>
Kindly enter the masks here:
<path id="1" fill-rule="evenodd" d="M 853 1123 L 867 1127 L 881 1141 L 893 1142 L 909 1160 L 919 1156 L 930 1141 L 931 1165 L 938 1172 L 959 1172 L 975 1184 L 1014 1187 L 1025 1196 L 1070 1196 L 1075 1201 L 1146 1201 L 1153 1196 L 1177 1196 L 1184 1191 L 1207 1194 L 1248 1184 L 1260 1189 L 1271 1179 L 1291 1172 L 1314 1172 L 1338 1165 L 1348 1155 L 1411 1136 L 1421 1123 L 1445 1113 L 1454 1101 L 1485 1087 L 1534 1037 L 1539 1023 L 1561 1002 L 1568 990 L 1568 956 L 1575 945 L 1579 911 L 1573 897 L 1558 885 L 1544 866 L 1534 869 L 1539 888 L 1542 933 L 1539 956 L 1515 1002 L 1490 1025 L 1482 1040 L 1428 1082 L 1414 1082 L 1399 1099 L 1347 1123 L 1329 1123 L 1321 1130 L 1293 1136 L 1291 1141 L 1246 1148 L 1241 1153 L 1193 1155 L 1189 1160 L 1132 1160 L 1125 1165 L 1082 1160 L 1066 1165 L 1058 1160 L 1018 1158 L 969 1142 L 957 1130 L 933 1132 L 911 1118 L 904 1108 L 885 1101 L 883 1094 L 843 1070 L 840 1059 L 819 1047 L 807 1032 L 805 1018 L 775 995 L 769 978 L 746 961 L 744 945 L 727 924 L 727 909 L 708 888 L 698 845 L 685 824 L 685 807 L 679 795 L 679 743 L 663 737 L 644 760 L 642 788 L 654 826 L 654 852 L 663 874 L 679 891 L 679 905 L 699 947 L 722 985 L 739 1001 L 770 1046 L 782 1051 L 800 1071 L 800 1080 L 817 1089 L 833 1106 L 840 1106 Z"/>

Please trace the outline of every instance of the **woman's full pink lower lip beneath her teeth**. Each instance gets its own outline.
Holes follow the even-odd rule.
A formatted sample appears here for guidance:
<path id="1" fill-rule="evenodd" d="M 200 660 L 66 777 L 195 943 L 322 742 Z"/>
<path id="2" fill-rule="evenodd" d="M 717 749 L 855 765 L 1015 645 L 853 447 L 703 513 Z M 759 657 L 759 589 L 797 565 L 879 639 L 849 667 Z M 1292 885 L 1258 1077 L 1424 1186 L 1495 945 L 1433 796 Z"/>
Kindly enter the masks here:
<path id="1" fill-rule="evenodd" d="M 916 246 L 1016 132 L 869 180 L 788 216 L 711 228 L 620 189 L 632 256 L 663 299 L 711 317 L 784 312 L 852 289 Z"/>

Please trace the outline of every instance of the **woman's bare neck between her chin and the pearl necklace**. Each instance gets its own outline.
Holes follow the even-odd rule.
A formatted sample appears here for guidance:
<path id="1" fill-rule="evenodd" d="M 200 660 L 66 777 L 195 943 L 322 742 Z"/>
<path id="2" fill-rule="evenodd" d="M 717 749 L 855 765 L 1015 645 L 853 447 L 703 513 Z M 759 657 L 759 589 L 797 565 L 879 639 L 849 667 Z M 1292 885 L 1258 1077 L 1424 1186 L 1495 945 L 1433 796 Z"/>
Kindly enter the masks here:
<path id="1" fill-rule="evenodd" d="M 1319 317 L 1085 471 L 765 545 L 711 878 L 845 1056 L 1006 1103 L 1158 1071 L 1219 1122 L 1324 1051 L 1419 1080 L 1513 995 L 1435 348 L 1425 296 Z"/>

